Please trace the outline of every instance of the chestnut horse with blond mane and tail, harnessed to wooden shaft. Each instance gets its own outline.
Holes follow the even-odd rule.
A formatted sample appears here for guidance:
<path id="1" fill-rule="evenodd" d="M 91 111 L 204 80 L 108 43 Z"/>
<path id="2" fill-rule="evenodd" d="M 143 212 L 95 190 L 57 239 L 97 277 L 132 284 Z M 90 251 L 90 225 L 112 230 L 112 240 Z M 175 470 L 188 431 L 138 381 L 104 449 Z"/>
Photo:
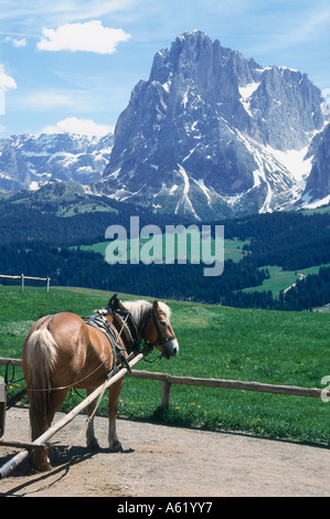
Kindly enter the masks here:
<path id="1" fill-rule="evenodd" d="M 138 341 L 145 340 L 150 347 L 171 359 L 179 351 L 173 333 L 171 310 L 164 303 L 126 301 L 125 308 L 135 325 Z M 102 385 L 116 363 L 120 364 L 134 348 L 128 327 L 115 318 L 109 307 L 97 314 L 106 320 L 108 333 L 92 326 L 81 317 L 61 313 L 39 319 L 30 329 L 23 347 L 23 371 L 30 402 L 30 425 L 32 441 L 41 436 L 52 424 L 54 414 L 64 402 L 70 388 L 85 389 L 87 395 Z M 121 325 L 121 326 L 118 326 Z M 120 335 L 119 328 L 125 328 Z M 109 340 L 109 332 L 116 339 Z M 118 346 L 117 346 L 118 345 Z M 119 354 L 117 352 L 119 351 Z M 121 354 L 121 357 L 120 357 Z M 116 416 L 119 393 L 124 378 L 109 388 L 109 449 L 121 451 L 116 434 Z M 87 407 L 88 416 L 95 402 Z M 87 446 L 97 448 L 93 419 L 86 432 Z M 31 462 L 38 470 L 51 468 L 46 451 L 34 451 Z"/>

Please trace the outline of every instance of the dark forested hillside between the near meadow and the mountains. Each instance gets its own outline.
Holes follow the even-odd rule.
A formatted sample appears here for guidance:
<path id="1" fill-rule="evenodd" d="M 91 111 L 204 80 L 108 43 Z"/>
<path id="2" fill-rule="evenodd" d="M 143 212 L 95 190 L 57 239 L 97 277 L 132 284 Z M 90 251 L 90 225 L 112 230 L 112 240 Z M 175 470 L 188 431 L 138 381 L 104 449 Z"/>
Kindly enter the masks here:
<path id="1" fill-rule="evenodd" d="M 304 310 L 330 303 L 330 214 L 273 213 L 209 222 L 223 224 L 225 239 L 245 242 L 239 261 L 227 260 L 217 277 L 203 276 L 204 265 L 108 265 L 104 256 L 81 250 L 83 244 L 105 241 L 108 225 L 139 214 L 140 226 L 178 224 L 172 216 L 157 216 L 129 204 L 74 198 L 66 201 L 71 216 L 58 215 L 57 204 L 35 195 L 6 199 L 0 204 L 0 274 L 51 277 L 52 285 L 84 286 L 109 292 L 191 299 L 235 307 Z M 85 203 L 96 210 L 83 211 Z M 97 210 L 100 203 L 105 210 Z M 106 206 L 106 203 L 108 204 Z M 64 202 L 62 201 L 62 211 Z M 78 208 L 78 209 L 76 209 Z M 70 209 L 70 208 L 68 208 Z M 76 209 L 76 210 L 75 210 Z M 188 223 L 187 223 L 188 225 Z M 279 296 L 260 289 L 273 265 L 284 271 L 321 267 L 297 280 Z M 4 280 L 2 280 L 4 283 Z M 9 283 L 9 282 L 8 282 Z M 258 287 L 256 292 L 244 289 Z M 244 290 L 244 292 L 243 292 Z"/>

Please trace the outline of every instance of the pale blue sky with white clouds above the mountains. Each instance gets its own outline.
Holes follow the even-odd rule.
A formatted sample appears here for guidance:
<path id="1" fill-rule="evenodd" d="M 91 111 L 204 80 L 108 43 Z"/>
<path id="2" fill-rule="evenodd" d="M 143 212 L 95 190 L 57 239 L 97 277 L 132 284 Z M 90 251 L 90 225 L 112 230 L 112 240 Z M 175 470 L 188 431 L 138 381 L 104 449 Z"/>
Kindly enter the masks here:
<path id="1" fill-rule="evenodd" d="M 329 100 L 329 0 L 0 0 L 0 137 L 109 131 L 156 52 L 194 29 Z"/>

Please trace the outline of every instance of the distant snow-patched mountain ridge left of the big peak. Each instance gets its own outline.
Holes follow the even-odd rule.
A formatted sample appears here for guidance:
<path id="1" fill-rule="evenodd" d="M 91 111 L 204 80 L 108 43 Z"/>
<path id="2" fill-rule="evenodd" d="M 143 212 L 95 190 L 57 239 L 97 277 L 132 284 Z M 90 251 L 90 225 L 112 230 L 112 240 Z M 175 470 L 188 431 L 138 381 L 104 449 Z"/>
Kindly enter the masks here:
<path id="1" fill-rule="evenodd" d="M 114 136 L 13 135 L 0 139 L 0 188 L 38 189 L 49 180 L 97 182 L 108 163 Z"/>

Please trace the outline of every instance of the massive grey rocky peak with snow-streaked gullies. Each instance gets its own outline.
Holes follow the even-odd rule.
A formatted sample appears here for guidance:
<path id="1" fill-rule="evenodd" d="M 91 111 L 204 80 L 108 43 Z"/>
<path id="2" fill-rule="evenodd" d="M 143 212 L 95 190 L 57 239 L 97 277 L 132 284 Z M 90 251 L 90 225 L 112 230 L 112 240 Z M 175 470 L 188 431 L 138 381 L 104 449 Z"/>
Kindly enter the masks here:
<path id="1" fill-rule="evenodd" d="M 196 219 L 292 206 L 323 128 L 322 103 L 306 74 L 185 32 L 132 91 L 99 187 Z"/>

